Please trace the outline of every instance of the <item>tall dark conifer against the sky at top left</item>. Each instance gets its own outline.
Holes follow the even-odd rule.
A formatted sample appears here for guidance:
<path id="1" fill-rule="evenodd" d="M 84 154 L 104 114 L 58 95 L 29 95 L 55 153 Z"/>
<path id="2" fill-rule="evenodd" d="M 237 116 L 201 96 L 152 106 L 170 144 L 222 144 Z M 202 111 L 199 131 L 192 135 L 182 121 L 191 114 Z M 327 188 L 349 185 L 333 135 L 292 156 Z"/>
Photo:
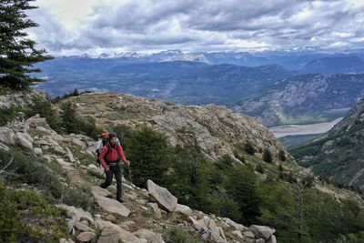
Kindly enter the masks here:
<path id="1" fill-rule="evenodd" d="M 0 86 L 22 89 L 43 79 L 29 76 L 40 72 L 32 68 L 37 62 L 51 59 L 45 49 L 35 49 L 35 41 L 26 38 L 26 28 L 38 26 L 27 18 L 26 10 L 34 0 L 0 0 Z"/>

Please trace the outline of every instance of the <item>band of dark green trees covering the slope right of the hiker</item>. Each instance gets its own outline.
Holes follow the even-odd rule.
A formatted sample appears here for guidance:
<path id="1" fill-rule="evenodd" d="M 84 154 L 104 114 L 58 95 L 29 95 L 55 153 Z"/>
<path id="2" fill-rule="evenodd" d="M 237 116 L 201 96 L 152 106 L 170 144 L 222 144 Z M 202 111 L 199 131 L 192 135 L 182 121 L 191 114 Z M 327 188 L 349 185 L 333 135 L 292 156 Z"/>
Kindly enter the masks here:
<path id="1" fill-rule="evenodd" d="M 244 164 L 227 155 L 210 161 L 196 144 L 167 146 L 166 138 L 150 128 L 117 129 L 139 186 L 146 182 L 140 178 L 152 178 L 181 204 L 244 225 L 272 226 L 280 242 L 363 240 L 364 211 L 358 202 L 338 201 L 319 191 L 313 177 L 299 175 L 289 164 L 259 163 L 244 145 L 236 151 L 245 157 Z"/>

